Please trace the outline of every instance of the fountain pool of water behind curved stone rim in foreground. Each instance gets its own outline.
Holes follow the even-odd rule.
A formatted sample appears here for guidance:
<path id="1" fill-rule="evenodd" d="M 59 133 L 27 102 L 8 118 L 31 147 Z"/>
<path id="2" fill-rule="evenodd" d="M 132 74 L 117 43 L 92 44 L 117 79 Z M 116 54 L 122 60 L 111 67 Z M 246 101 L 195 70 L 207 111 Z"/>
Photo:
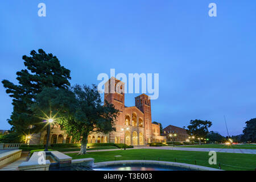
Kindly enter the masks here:
<path id="1" fill-rule="evenodd" d="M 119 164 L 115 166 L 106 166 L 93 168 L 94 171 L 191 171 L 191 169 L 173 167 L 173 166 L 163 166 L 155 164 Z"/>

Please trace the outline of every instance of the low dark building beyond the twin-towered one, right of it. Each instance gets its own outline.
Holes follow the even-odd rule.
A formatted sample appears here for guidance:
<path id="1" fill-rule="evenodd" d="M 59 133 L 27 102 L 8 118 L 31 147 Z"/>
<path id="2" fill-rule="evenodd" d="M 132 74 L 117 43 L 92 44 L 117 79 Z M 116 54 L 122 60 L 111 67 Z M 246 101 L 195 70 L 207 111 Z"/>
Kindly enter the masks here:
<path id="1" fill-rule="evenodd" d="M 172 137 L 169 137 L 170 134 L 176 134 L 176 142 L 185 142 L 188 139 L 187 131 L 181 127 L 169 125 L 163 129 L 163 135 L 166 136 L 167 141 L 172 141 Z"/>

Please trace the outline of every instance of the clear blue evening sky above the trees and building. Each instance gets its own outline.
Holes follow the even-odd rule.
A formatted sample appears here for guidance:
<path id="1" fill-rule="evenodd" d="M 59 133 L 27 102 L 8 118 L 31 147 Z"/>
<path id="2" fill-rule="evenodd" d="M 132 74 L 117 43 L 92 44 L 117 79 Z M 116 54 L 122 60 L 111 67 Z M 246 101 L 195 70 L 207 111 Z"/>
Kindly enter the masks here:
<path id="1" fill-rule="evenodd" d="M 46 3 L 46 17 L 38 4 Z M 217 17 L 208 5 L 217 4 Z M 242 133 L 256 117 L 256 1 L 1 1 L 0 78 L 16 83 L 22 56 L 43 48 L 71 70 L 72 84 L 98 84 L 100 73 L 159 73 L 152 120 Z M 126 94 L 133 106 L 138 94 Z M 13 109 L 0 85 L 0 129 Z"/>

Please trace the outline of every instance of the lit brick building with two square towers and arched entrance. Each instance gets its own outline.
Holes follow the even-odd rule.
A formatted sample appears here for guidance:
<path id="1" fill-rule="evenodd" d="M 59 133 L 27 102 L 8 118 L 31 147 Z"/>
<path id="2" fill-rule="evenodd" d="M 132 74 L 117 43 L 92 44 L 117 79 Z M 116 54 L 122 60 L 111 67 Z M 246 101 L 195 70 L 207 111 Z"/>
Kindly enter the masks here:
<path id="1" fill-rule="evenodd" d="M 116 90 L 116 89 L 119 90 Z M 160 136 L 159 125 L 152 124 L 151 101 L 146 94 L 135 97 L 135 106 L 125 106 L 125 83 L 112 77 L 105 83 L 104 100 L 112 103 L 119 110 L 118 118 L 113 127 L 116 131 L 109 134 L 91 132 L 88 143 L 126 143 L 128 145 L 144 145 L 150 142 L 166 142 L 166 137 Z M 30 144 L 46 144 L 47 133 L 43 131 L 31 136 Z M 49 142 L 71 143 L 72 137 L 52 126 Z"/>

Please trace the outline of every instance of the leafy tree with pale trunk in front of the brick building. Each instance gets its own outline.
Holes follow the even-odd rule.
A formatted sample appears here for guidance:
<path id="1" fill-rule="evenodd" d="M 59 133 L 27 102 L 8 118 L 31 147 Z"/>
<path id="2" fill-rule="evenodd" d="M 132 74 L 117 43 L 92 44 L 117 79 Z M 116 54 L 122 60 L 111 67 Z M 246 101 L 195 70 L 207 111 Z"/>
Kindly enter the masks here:
<path id="1" fill-rule="evenodd" d="M 52 115 L 68 135 L 81 140 L 79 154 L 86 154 L 91 132 L 115 131 L 113 122 L 119 112 L 113 104 L 102 103 L 96 85 L 75 85 L 70 90 L 46 88 L 38 94 L 32 108 L 35 113 Z"/>

